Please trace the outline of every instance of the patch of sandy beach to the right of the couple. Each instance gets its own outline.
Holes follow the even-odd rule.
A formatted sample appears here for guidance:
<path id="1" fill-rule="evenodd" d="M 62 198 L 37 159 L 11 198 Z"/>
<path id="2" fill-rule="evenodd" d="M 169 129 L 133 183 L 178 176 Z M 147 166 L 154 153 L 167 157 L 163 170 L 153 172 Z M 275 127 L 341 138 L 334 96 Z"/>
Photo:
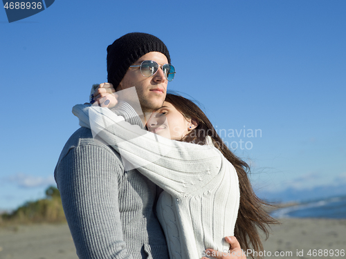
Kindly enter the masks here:
<path id="1" fill-rule="evenodd" d="M 271 236 L 264 242 L 267 252 L 264 258 L 346 258 L 346 255 L 335 256 L 336 249 L 346 250 L 346 220 L 289 218 L 280 222 L 281 225 L 272 227 Z M 326 253 L 319 256 L 319 249 Z M 334 256 L 330 256 L 332 252 Z"/>

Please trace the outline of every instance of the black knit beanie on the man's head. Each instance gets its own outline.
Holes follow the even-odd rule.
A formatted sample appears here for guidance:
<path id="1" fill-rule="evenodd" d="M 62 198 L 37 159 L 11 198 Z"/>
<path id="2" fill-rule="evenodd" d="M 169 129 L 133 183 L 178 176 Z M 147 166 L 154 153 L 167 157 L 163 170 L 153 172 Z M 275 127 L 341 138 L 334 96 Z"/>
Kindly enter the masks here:
<path id="1" fill-rule="evenodd" d="M 154 35 L 143 32 L 131 32 L 116 39 L 107 47 L 107 79 L 117 88 L 127 69 L 143 55 L 156 51 L 161 52 L 171 63 L 167 47 Z"/>

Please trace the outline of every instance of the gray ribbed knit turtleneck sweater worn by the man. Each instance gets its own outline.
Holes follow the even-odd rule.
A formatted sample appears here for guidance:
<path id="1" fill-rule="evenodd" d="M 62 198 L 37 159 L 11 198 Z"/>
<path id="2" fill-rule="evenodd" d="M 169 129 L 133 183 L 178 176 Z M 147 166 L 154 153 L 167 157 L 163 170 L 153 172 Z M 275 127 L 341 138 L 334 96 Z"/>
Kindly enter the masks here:
<path id="1" fill-rule="evenodd" d="M 116 113 L 143 127 L 128 104 Z M 120 155 L 89 128 L 70 137 L 54 176 L 79 258 L 169 258 L 154 213 L 158 187 L 136 169 L 125 172 Z"/>

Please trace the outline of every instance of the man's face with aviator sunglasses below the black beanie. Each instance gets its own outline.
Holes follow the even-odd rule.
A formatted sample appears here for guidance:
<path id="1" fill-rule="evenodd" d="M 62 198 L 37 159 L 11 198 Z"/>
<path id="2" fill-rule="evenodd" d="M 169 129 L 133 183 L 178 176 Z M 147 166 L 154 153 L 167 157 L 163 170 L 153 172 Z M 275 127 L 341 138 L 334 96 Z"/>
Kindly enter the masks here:
<path id="1" fill-rule="evenodd" d="M 139 65 L 145 60 L 153 60 L 156 61 L 159 66 L 161 65 L 156 74 L 152 77 L 144 77 L 142 73 L 140 73 Z M 135 86 L 140 106 L 142 106 L 144 113 L 149 113 L 160 108 L 163 105 L 167 92 L 167 79 L 161 67 L 163 64 L 167 63 L 167 57 L 161 52 L 149 52 L 143 55 L 132 64 L 138 67 L 129 68 L 127 70 L 116 90 L 124 90 Z M 132 96 L 124 96 L 123 99 L 129 102 L 129 104 L 135 102 Z"/>

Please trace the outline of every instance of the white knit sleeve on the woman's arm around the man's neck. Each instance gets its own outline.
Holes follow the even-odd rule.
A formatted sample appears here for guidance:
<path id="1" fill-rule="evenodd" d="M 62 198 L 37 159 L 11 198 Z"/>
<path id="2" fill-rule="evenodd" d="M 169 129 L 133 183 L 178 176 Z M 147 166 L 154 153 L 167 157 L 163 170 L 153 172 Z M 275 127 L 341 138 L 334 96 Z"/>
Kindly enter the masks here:
<path id="1" fill-rule="evenodd" d="M 125 122 L 107 108 L 78 105 L 73 113 L 113 146 L 123 161 L 176 197 L 203 189 L 221 169 L 221 153 L 212 144 L 168 140 Z"/>

